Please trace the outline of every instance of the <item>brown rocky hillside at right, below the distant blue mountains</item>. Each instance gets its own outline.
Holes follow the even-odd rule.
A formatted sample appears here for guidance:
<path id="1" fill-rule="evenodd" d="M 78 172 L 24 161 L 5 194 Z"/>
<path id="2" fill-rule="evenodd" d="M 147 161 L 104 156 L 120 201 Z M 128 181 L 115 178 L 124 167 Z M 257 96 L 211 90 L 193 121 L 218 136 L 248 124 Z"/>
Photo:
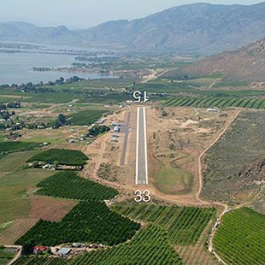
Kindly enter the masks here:
<path id="1" fill-rule="evenodd" d="M 265 38 L 232 52 L 208 56 L 183 70 L 188 75 L 222 73 L 225 80 L 265 81 Z"/>

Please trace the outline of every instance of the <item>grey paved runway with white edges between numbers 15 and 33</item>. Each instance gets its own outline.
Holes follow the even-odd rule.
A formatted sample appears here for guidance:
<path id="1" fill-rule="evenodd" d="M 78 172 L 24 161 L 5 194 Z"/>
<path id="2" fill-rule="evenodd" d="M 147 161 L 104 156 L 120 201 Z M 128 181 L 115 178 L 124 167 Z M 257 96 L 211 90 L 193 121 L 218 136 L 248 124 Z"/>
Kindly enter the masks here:
<path id="1" fill-rule="evenodd" d="M 145 107 L 137 107 L 135 184 L 148 184 Z"/>

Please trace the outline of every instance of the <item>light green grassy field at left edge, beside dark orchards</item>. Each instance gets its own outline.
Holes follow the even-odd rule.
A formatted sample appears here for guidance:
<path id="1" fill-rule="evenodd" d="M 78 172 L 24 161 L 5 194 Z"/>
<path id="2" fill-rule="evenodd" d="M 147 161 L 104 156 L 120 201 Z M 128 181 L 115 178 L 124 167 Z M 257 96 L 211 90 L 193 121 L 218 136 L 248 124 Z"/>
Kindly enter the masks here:
<path id="1" fill-rule="evenodd" d="M 27 159 L 39 151 L 11 153 L 0 163 L 0 224 L 28 218 L 30 211 L 27 191 L 36 188 L 43 179 L 54 174 L 41 169 L 20 170 Z M 0 229 L 0 232 L 3 229 Z"/>

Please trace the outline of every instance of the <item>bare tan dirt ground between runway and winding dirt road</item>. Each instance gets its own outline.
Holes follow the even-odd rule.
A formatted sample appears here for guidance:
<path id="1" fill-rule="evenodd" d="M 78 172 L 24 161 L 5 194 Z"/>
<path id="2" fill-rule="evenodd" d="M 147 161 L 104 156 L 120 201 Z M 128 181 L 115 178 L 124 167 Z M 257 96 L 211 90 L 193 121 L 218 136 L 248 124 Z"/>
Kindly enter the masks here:
<path id="1" fill-rule="evenodd" d="M 149 179 L 155 195 L 177 203 L 199 203 L 195 198 L 199 188 L 197 159 L 234 113 L 211 114 L 190 107 L 148 109 Z"/>

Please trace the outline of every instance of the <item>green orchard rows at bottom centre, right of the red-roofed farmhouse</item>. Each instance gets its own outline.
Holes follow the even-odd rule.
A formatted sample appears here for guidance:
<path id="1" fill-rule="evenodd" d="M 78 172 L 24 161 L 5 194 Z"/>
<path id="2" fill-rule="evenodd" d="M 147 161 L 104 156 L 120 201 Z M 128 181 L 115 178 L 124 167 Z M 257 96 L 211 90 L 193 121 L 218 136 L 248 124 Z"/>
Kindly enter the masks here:
<path id="1" fill-rule="evenodd" d="M 180 265 L 179 255 L 167 238 L 167 232 L 149 225 L 142 229 L 129 243 L 80 255 L 72 260 L 22 257 L 15 265 Z"/>

